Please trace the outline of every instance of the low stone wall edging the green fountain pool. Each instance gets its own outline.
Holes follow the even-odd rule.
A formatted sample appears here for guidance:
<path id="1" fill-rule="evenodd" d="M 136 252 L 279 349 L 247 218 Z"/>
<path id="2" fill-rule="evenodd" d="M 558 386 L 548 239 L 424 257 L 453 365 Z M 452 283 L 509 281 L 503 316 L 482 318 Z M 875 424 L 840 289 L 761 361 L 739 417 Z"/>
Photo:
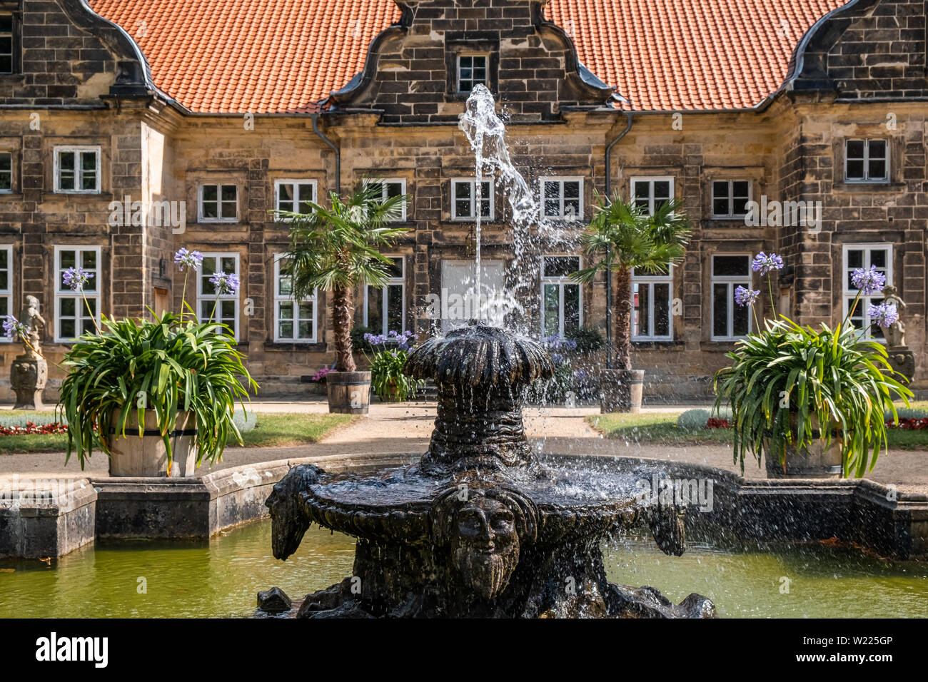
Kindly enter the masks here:
<path id="1" fill-rule="evenodd" d="M 297 465 L 361 472 L 405 466 L 419 457 L 406 452 L 290 457 L 184 479 L 0 476 L 0 557 L 58 557 L 95 538 L 205 539 L 266 517 L 264 500 L 271 488 Z M 928 559 L 928 495 L 896 491 L 890 484 L 754 479 L 704 464 L 641 457 L 546 458 L 594 468 L 612 462 L 620 470 L 644 468 L 671 479 L 712 481 L 715 513 L 687 515 L 696 534 L 752 541 L 838 537 L 884 556 Z"/>

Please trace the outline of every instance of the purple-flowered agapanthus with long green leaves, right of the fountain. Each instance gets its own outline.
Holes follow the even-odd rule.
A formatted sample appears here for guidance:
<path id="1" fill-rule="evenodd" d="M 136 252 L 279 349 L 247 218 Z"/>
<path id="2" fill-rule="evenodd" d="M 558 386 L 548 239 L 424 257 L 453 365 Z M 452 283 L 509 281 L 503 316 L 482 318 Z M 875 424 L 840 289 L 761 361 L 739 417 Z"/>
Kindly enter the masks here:
<path id="1" fill-rule="evenodd" d="M 783 267 L 775 253 L 758 253 L 754 272 L 767 277 L 771 310 L 772 276 Z M 851 322 L 861 297 L 883 290 L 886 277 L 875 267 L 858 268 L 851 281 L 857 296 L 837 328 L 801 326 L 785 315 L 757 317 L 760 291 L 735 290 L 735 302 L 750 306 L 755 327 L 727 354 L 732 363 L 715 374 L 715 412 L 728 403 L 734 430 L 734 459 L 744 470 L 746 453 L 760 462 L 762 451 L 786 467 L 787 447 L 797 451 L 815 440 L 842 444 L 843 475 L 861 477 L 886 449 L 884 411 L 898 423 L 893 401 L 909 405 L 912 392 L 889 364 L 886 349 Z M 898 317 L 891 303 L 870 305 L 874 324 L 887 327 Z"/>

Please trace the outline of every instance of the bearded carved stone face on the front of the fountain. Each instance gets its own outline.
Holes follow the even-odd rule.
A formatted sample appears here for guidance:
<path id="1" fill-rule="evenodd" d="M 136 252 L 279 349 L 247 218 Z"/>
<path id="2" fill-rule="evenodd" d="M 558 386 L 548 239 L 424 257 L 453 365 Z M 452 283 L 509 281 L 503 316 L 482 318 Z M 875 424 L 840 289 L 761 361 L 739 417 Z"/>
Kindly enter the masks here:
<path id="1" fill-rule="evenodd" d="M 515 515 L 496 499 L 471 499 L 455 516 L 451 551 L 464 585 L 483 598 L 496 597 L 519 563 Z"/>

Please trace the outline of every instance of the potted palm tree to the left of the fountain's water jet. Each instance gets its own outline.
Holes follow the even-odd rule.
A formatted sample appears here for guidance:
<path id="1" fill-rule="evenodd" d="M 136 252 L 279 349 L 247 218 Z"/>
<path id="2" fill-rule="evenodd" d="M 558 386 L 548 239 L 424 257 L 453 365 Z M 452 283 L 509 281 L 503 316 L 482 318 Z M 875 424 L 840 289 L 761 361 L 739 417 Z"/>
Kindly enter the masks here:
<path id="1" fill-rule="evenodd" d="M 376 180 L 362 180 L 342 199 L 331 192 L 328 208 L 307 202 L 308 213 L 277 212 L 290 223 L 290 248 L 284 272 L 295 298 L 315 290 L 331 294 L 335 371 L 326 375 L 329 412 L 366 415 L 370 405 L 370 372 L 359 372 L 351 341 L 358 286 L 382 287 L 392 261 L 380 253 L 408 229 L 390 224 L 402 215 L 406 195 L 382 199 Z"/>

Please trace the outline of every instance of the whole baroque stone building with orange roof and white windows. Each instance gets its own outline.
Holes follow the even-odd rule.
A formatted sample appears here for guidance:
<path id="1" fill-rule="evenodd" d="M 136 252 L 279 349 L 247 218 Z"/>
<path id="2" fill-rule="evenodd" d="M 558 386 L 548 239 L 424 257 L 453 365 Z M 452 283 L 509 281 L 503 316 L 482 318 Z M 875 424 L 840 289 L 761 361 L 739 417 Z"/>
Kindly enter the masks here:
<path id="1" fill-rule="evenodd" d="M 761 285 L 757 251 L 787 260 L 775 304 L 807 324 L 844 315 L 855 267 L 883 270 L 922 388 L 925 19 L 924 0 L 0 0 L 0 315 L 36 296 L 52 364 L 91 314 L 185 296 L 234 328 L 265 393 L 301 392 L 333 359 L 326 295 L 290 299 L 272 211 L 376 176 L 408 195 L 410 231 L 356 324 L 427 333 L 429 295 L 470 285 L 477 211 L 483 279 L 509 285 L 511 212 L 490 183 L 477 205 L 458 130 L 482 83 L 561 232 L 595 191 L 683 200 L 684 262 L 635 279 L 646 398 L 711 391 L 752 328 L 733 290 Z M 602 331 L 605 283 L 569 280 L 575 247 L 533 245 L 531 326 Z M 181 247 L 205 255 L 199 277 L 174 268 Z M 95 275 L 90 312 L 61 285 L 72 264 Z M 218 268 L 242 288 L 217 302 Z M 18 353 L 0 343 L 0 367 Z"/>

